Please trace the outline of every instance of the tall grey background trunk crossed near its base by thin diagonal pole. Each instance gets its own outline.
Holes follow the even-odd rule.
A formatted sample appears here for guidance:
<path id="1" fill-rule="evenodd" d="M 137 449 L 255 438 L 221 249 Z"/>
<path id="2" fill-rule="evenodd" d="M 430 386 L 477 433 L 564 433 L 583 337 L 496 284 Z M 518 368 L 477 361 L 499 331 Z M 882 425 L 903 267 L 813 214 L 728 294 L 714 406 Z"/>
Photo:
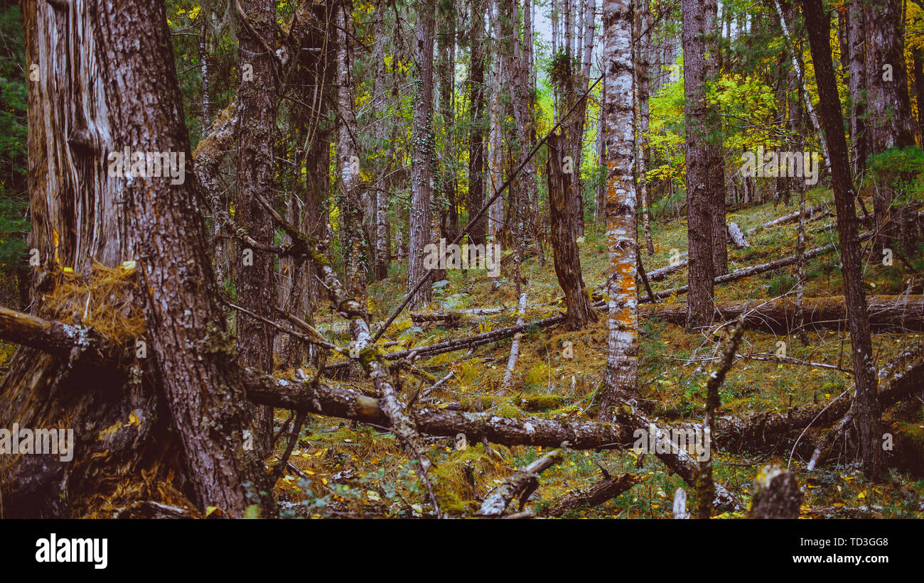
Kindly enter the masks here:
<path id="1" fill-rule="evenodd" d="M 432 147 L 433 147 L 433 0 L 418 0 L 417 9 L 417 85 L 414 99 L 413 152 L 411 154 L 410 228 L 407 243 L 407 290 L 431 277 L 424 268 L 423 248 L 432 243 Z M 432 288 L 424 284 L 411 307 L 430 303 Z"/>

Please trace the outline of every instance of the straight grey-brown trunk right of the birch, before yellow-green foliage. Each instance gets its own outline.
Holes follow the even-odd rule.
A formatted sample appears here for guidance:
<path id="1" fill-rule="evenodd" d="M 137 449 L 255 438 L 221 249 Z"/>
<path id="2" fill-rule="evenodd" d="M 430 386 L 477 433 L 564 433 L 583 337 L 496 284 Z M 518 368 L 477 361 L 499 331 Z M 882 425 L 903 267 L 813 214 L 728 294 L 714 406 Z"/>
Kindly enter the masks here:
<path id="1" fill-rule="evenodd" d="M 689 300 L 687 306 L 687 328 L 709 326 L 712 321 L 712 280 L 715 277 L 713 262 L 712 205 L 715 195 L 711 192 L 711 109 L 706 101 L 706 84 L 711 77 L 707 66 L 706 36 L 711 34 L 708 25 L 707 5 L 714 9 L 714 2 L 703 4 L 694 0 L 683 0 L 683 44 L 684 54 L 684 96 L 687 118 L 687 244 L 689 249 Z M 724 234 L 724 232 L 723 232 Z"/>

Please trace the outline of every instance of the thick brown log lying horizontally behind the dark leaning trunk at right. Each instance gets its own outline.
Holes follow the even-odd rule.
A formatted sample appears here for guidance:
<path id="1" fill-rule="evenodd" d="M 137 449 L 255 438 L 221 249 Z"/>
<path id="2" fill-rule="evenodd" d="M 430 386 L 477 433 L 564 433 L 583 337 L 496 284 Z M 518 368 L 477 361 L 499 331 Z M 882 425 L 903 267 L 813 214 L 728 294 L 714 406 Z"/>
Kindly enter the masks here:
<path id="1" fill-rule="evenodd" d="M 771 300 L 720 302 L 715 304 L 717 321 L 736 320 L 744 316 L 745 327 L 776 334 L 796 331 L 797 304 L 794 299 L 780 297 Z M 846 329 L 846 307 L 843 296 L 802 299 L 803 326 L 808 329 Z M 878 332 L 924 331 L 924 296 L 871 295 L 867 297 L 869 327 Z M 639 316 L 656 317 L 665 322 L 684 326 L 687 303 L 659 303 L 639 306 Z"/>

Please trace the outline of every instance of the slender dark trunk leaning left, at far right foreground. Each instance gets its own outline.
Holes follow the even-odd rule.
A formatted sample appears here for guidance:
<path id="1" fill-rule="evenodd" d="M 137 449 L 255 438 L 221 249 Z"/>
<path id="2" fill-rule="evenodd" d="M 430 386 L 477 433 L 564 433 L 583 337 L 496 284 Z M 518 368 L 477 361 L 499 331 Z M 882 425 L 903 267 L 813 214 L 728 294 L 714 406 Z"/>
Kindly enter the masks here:
<path id="1" fill-rule="evenodd" d="M 831 65 L 831 17 L 821 7 L 821 0 L 800 1 L 806 19 L 815 77 L 818 81 L 821 119 L 825 135 L 828 137 L 828 148 L 831 149 L 837 235 L 841 242 L 847 320 L 850 325 L 851 354 L 857 383 L 857 424 L 860 428 L 864 473 L 873 479 L 880 477 L 883 470 L 881 411 L 876 399 L 876 369 L 869 340 L 866 293 L 863 291 L 863 266 L 857 241 L 854 187 L 847 159 L 841 100 L 837 95 L 837 82 Z"/>

